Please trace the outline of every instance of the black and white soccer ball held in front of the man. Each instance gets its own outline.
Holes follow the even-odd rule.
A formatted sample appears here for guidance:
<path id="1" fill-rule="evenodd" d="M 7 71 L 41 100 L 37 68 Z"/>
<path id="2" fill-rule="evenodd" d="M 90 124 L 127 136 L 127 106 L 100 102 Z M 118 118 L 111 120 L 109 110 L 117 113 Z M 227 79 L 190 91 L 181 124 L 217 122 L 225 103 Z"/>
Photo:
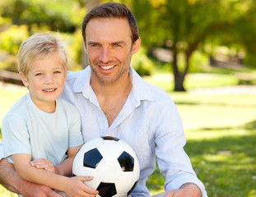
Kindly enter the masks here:
<path id="1" fill-rule="evenodd" d="M 74 176 L 94 176 L 86 186 L 101 197 L 128 196 L 137 184 L 140 167 L 133 149 L 123 140 L 99 137 L 88 141 L 77 152 Z"/>

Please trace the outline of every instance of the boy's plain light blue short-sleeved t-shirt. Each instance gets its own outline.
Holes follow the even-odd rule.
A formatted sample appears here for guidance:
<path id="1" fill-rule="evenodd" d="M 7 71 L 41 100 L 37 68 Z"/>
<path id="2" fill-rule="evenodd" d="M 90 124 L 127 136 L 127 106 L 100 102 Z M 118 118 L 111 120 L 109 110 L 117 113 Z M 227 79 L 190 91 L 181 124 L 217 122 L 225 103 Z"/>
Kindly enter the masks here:
<path id="1" fill-rule="evenodd" d="M 11 163 L 12 154 L 27 153 L 32 160 L 45 158 L 58 165 L 67 157 L 69 147 L 83 143 L 80 114 L 61 98 L 56 99 L 54 113 L 43 112 L 26 94 L 3 118 L 2 141 Z"/>

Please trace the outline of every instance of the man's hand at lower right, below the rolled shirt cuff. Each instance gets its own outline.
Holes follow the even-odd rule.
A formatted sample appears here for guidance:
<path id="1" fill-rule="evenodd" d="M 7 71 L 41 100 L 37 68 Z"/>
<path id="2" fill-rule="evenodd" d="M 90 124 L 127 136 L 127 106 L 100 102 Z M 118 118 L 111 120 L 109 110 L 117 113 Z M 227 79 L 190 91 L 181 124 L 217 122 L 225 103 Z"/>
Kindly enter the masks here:
<path id="1" fill-rule="evenodd" d="M 202 197 L 201 190 L 198 186 L 188 184 L 179 190 L 171 190 L 165 193 L 165 197 Z"/>

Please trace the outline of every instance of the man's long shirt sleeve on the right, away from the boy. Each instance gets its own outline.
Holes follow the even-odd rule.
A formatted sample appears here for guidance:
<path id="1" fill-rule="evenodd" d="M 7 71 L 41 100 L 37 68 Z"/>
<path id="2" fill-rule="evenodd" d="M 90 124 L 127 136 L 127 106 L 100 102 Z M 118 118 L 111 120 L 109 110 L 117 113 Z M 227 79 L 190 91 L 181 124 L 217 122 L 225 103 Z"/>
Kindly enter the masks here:
<path id="1" fill-rule="evenodd" d="M 175 103 L 168 103 L 159 114 L 161 122 L 156 133 L 156 157 L 160 172 L 165 176 L 165 190 L 179 189 L 184 183 L 193 182 L 202 190 L 202 196 L 207 197 L 184 151 L 186 139 L 179 112 Z"/>

